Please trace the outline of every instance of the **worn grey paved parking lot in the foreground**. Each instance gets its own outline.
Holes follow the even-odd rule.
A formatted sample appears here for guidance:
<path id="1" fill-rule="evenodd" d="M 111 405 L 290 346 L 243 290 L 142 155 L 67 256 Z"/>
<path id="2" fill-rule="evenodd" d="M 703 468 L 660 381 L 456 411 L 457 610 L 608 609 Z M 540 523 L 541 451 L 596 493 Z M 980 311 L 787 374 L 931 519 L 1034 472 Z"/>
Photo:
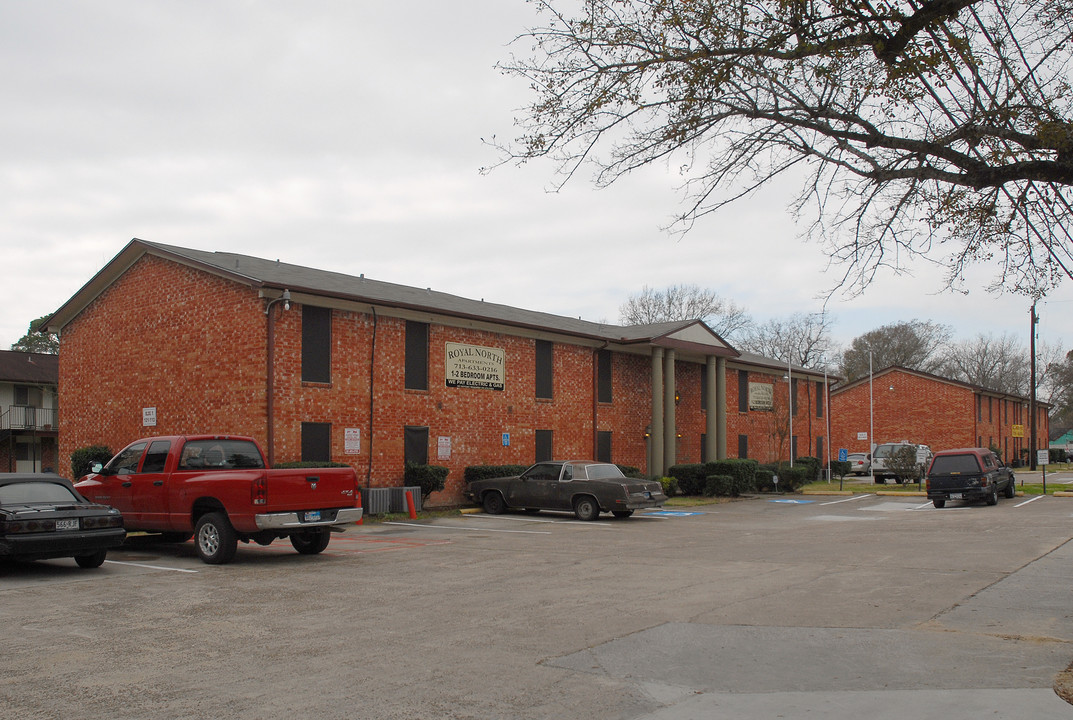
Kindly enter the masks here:
<path id="1" fill-rule="evenodd" d="M 1073 718 L 1073 499 L 755 497 L 0 565 L 20 718 Z"/>

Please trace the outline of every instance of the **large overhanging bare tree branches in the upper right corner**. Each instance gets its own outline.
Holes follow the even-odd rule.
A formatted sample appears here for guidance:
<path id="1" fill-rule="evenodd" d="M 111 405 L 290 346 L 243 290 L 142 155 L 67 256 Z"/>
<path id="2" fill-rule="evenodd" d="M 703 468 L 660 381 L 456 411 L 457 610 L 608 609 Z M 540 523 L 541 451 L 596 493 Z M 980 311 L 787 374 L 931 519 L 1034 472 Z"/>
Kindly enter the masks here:
<path id="1" fill-rule="evenodd" d="M 1070 277 L 1073 2 L 533 2 L 504 162 L 598 185 L 679 162 L 682 230 L 805 173 L 793 207 L 850 294 L 920 256 L 954 288 L 975 263 L 1033 297 Z"/>

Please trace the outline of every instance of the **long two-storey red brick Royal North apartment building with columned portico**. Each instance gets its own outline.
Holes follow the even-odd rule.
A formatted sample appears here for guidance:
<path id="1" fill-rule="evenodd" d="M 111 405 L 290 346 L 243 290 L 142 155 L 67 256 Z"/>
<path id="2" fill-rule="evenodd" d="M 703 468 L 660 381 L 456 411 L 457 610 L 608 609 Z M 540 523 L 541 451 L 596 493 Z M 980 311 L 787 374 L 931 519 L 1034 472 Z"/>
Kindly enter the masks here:
<path id="1" fill-rule="evenodd" d="M 449 504 L 470 465 L 596 457 L 656 476 L 784 459 L 791 443 L 822 456 L 828 437 L 822 374 L 739 353 L 701 321 L 606 325 L 139 239 L 48 327 L 64 461 L 241 434 L 274 462 L 342 461 L 373 487 L 400 485 L 408 460 L 445 466 L 430 502 Z"/>

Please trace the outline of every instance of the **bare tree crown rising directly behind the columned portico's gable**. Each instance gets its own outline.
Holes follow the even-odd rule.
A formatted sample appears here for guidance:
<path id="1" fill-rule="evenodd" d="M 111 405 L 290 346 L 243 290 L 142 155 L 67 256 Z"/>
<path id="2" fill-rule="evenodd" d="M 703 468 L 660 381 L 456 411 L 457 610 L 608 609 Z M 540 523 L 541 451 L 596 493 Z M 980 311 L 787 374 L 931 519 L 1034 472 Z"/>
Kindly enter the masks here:
<path id="1" fill-rule="evenodd" d="M 655 290 L 645 285 L 619 308 L 623 324 L 644 325 L 671 320 L 703 320 L 723 339 L 731 339 L 752 319 L 744 308 L 700 285 L 671 285 Z"/>

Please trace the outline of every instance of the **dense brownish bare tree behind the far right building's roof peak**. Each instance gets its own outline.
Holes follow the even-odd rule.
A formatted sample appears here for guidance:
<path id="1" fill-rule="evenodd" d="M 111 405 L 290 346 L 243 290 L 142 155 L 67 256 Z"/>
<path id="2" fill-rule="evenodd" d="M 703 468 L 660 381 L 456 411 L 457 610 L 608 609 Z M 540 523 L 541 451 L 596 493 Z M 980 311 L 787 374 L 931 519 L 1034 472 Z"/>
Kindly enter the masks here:
<path id="1" fill-rule="evenodd" d="M 869 367 L 880 370 L 898 366 L 923 372 L 939 372 L 941 351 L 953 330 L 931 321 L 882 325 L 853 339 L 842 352 L 840 373 L 847 382 L 868 374 Z"/>

